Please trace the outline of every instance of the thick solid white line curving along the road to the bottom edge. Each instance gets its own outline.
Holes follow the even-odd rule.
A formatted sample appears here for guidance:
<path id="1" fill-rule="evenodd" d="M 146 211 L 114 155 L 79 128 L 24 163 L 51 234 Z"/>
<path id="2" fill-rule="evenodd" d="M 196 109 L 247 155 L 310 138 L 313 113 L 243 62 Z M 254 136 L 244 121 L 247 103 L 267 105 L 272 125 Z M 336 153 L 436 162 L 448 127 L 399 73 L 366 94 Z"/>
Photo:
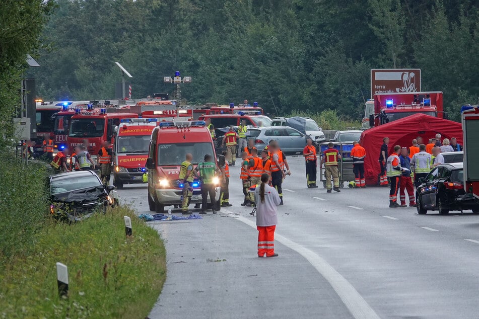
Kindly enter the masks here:
<path id="1" fill-rule="evenodd" d="M 222 210 L 221 213 L 233 214 L 228 210 Z M 239 216 L 237 220 L 251 226 L 256 229 L 256 223 L 248 218 Z M 296 251 L 303 256 L 324 279 L 326 279 L 331 287 L 336 291 L 337 295 L 353 317 L 356 319 L 379 319 L 379 316 L 373 308 L 364 300 L 359 292 L 353 287 L 353 285 L 346 280 L 341 274 L 339 274 L 331 265 L 329 265 L 323 258 L 314 253 L 313 251 L 289 240 L 285 236 L 275 233 L 275 239 L 286 247 Z"/>

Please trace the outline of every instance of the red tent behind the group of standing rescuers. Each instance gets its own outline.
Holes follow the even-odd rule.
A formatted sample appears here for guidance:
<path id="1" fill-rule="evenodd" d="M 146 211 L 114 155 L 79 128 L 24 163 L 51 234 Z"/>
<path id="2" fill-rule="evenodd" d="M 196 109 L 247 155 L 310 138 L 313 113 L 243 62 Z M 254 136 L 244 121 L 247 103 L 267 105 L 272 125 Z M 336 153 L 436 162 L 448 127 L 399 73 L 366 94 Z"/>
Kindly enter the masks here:
<path id="1" fill-rule="evenodd" d="M 364 161 L 366 184 L 378 184 L 378 176 L 381 172 L 379 151 L 384 137 L 389 137 L 390 139 L 388 144 L 388 154 L 390 154 L 394 145 L 409 147 L 412 145 L 413 139 L 418 136 L 423 137 L 424 143 L 427 144 L 429 139 L 435 137 L 437 133 L 441 134 L 442 139 L 456 137 L 457 142 L 462 145 L 461 123 L 421 113 L 364 131 L 361 135 L 360 143 L 366 149 L 366 159 Z"/>

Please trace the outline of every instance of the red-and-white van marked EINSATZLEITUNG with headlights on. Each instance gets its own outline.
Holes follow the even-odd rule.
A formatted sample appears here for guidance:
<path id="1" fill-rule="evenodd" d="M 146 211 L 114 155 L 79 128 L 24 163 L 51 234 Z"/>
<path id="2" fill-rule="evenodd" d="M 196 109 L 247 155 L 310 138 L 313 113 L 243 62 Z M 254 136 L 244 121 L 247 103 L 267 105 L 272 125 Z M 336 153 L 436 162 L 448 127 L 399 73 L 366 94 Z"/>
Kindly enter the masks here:
<path id="1" fill-rule="evenodd" d="M 193 168 L 211 154 L 216 161 L 210 131 L 203 121 L 160 122 L 153 129 L 147 159 L 148 205 L 162 213 L 165 206 L 181 205 L 183 185 L 178 182 L 181 163 L 187 153 L 193 155 Z M 216 200 L 220 197 L 220 181 L 215 179 Z M 200 182 L 193 181 L 191 204 L 201 203 Z"/>

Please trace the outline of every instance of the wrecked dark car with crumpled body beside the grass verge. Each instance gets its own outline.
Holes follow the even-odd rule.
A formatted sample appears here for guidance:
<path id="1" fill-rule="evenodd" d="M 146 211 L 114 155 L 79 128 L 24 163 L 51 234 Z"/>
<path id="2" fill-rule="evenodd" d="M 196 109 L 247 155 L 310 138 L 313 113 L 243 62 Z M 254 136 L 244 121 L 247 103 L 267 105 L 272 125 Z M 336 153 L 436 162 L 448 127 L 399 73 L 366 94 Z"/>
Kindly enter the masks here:
<path id="1" fill-rule="evenodd" d="M 79 221 L 93 213 L 105 212 L 108 205 L 118 203 L 115 187 L 105 188 L 93 171 L 79 171 L 51 175 L 50 213 L 58 219 Z"/>

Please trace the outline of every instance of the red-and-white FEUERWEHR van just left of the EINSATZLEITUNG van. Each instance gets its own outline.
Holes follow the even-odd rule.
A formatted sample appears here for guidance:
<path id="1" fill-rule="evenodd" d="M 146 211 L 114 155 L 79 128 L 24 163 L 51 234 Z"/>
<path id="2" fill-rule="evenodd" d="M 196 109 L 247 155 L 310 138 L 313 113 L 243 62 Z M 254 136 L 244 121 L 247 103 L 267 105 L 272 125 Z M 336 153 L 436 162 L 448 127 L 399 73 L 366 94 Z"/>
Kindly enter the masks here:
<path id="1" fill-rule="evenodd" d="M 124 184 L 146 183 L 143 175 L 148 158 L 151 132 L 157 118 L 121 119 L 116 127 L 114 144 L 113 185 L 122 188 Z"/>

